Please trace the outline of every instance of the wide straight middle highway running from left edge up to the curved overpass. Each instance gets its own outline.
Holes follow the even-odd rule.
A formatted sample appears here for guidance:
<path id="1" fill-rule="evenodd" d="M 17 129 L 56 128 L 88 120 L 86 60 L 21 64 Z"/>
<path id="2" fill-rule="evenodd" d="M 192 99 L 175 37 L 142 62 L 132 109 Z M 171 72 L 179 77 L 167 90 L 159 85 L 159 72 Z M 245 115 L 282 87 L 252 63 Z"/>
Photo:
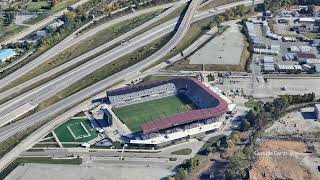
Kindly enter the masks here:
<path id="1" fill-rule="evenodd" d="M 152 42 L 153 40 L 157 39 L 159 35 L 165 35 L 173 30 L 174 26 L 166 26 L 166 24 L 161 25 L 164 26 L 164 30 L 156 30 L 151 29 L 147 33 L 143 33 L 139 36 L 134 37 L 130 40 L 130 42 L 126 43 L 125 45 L 120 45 L 117 48 L 112 49 L 111 51 L 104 53 L 91 61 L 84 63 L 83 65 L 79 66 L 78 68 L 67 72 L 66 74 L 45 83 L 44 85 L 35 88 L 33 90 L 28 91 L 27 93 L 18 96 L 6 103 L 3 103 L 0 107 L 0 121 L 8 121 L 8 119 L 5 119 L 4 116 L 9 112 L 14 111 L 13 109 L 16 109 L 20 107 L 23 104 L 31 103 L 31 104 L 38 104 L 39 102 L 47 99 L 48 97 L 51 97 L 58 93 L 59 91 L 65 89 L 70 84 L 80 80 L 81 78 L 85 77 L 86 75 L 90 74 L 91 72 L 94 72 L 99 67 L 102 67 L 105 64 L 111 63 L 112 61 L 120 58 L 121 56 L 133 52 L 134 50 L 138 49 L 139 47 L 142 47 L 144 45 L 147 45 L 148 43 Z M 169 27 L 169 28 L 168 28 Z M 170 28 L 171 27 L 171 28 Z M 159 34 L 160 33 L 160 34 Z M 77 58 L 76 61 L 81 61 L 82 59 Z M 74 62 L 72 62 L 74 63 Z M 70 64 L 70 63 L 69 63 Z M 58 67 L 57 69 L 65 68 L 66 66 Z M 55 70 L 56 71 L 56 70 Z M 51 71 L 52 72 L 52 71 Z M 50 73 L 51 73 L 50 72 Z M 56 71 L 59 72 L 59 71 Z M 49 73 L 48 73 L 49 74 Z M 30 85 L 29 82 L 24 83 L 24 85 Z M 22 85 L 21 85 L 22 86 Z M 14 92 L 15 90 L 18 90 L 19 87 L 13 88 Z M 5 94 L 8 94 L 7 92 Z M 10 93 L 12 94 L 12 93 Z M 4 96 L 5 97 L 5 96 Z M 0 123 L 4 124 L 4 123 Z"/>

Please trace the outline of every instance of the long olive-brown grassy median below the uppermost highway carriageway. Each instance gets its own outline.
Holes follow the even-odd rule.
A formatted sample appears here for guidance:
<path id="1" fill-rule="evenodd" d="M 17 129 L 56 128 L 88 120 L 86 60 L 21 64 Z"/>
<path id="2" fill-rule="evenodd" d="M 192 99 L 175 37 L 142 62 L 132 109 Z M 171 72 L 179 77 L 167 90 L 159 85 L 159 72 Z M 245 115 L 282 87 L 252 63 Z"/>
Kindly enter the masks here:
<path id="1" fill-rule="evenodd" d="M 125 34 L 126 32 L 142 25 L 143 23 L 145 23 L 145 22 L 149 21 L 150 19 L 154 18 L 155 16 L 157 16 L 157 14 L 159 14 L 159 13 L 160 13 L 160 11 L 146 13 L 146 14 L 143 14 L 139 17 L 120 22 L 120 23 L 115 24 L 111 27 L 108 27 L 102 31 L 99 31 L 97 34 L 80 41 L 78 44 L 67 48 L 63 52 L 61 52 L 58 55 L 47 60 L 45 63 L 42 63 L 41 65 L 37 66 L 35 69 L 26 73 L 24 76 L 16 79 L 12 83 L 3 87 L 0 91 L 5 91 L 10 88 L 13 88 L 13 87 L 25 82 L 25 81 L 28 81 L 28 80 L 40 75 L 40 74 L 43 74 L 51 69 L 54 69 L 55 67 L 58 67 L 64 63 L 92 50 L 92 49 L 95 49 L 96 47 L 101 46 L 101 45 L 121 36 L 122 34 Z M 114 46 L 111 48 L 114 48 Z M 104 52 L 110 50 L 111 48 L 107 48 L 106 50 L 104 50 Z M 101 53 L 98 53 L 98 54 L 101 54 Z M 81 61 L 80 63 L 77 63 L 76 65 L 68 68 L 67 71 L 79 66 L 80 64 L 82 64 L 84 62 L 87 62 L 88 60 L 91 60 L 95 56 L 96 55 L 89 57 L 89 58 Z M 49 79 L 47 79 L 47 80 L 49 80 Z"/>

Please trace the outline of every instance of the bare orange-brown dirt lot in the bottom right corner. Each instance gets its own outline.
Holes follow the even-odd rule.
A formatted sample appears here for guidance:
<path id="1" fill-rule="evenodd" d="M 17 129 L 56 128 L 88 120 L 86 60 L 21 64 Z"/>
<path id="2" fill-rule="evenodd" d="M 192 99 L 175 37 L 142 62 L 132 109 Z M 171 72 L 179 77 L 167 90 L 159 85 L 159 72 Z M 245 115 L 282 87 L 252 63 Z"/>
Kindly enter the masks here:
<path id="1" fill-rule="evenodd" d="M 250 171 L 253 180 L 260 179 L 297 179 L 316 180 L 319 174 L 304 161 L 314 161 L 312 154 L 304 153 L 307 146 L 303 142 L 267 140 L 261 143 L 257 152 L 271 152 L 269 155 L 258 155 Z M 312 157 L 312 158 L 311 158 Z M 315 166 L 313 166 L 315 168 Z"/>

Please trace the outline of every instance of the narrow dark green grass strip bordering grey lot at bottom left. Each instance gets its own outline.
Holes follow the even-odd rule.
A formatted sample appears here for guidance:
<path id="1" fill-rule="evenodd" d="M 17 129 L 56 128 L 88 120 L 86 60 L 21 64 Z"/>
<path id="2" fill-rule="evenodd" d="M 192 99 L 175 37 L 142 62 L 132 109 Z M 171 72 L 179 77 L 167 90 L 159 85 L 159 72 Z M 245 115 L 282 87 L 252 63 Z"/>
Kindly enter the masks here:
<path id="1" fill-rule="evenodd" d="M 0 172 L 0 179 L 4 179 L 16 167 L 24 163 L 41 163 L 41 164 L 70 164 L 80 165 L 81 158 L 76 159 L 52 159 L 50 157 L 19 157 L 10 163 L 3 171 Z"/>

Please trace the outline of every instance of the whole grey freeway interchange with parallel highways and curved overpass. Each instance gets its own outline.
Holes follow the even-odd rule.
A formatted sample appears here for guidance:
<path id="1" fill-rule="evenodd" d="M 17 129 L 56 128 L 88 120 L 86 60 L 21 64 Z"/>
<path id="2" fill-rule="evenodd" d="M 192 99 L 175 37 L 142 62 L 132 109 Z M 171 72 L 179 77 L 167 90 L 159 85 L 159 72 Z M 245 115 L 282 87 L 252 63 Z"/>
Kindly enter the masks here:
<path id="1" fill-rule="evenodd" d="M 261 2 L 263 1 L 256 1 L 256 3 L 261 3 Z M 113 85 L 119 82 L 122 82 L 123 80 L 126 79 L 126 77 L 133 77 L 137 74 L 141 74 L 145 68 L 156 63 L 158 60 L 164 57 L 168 52 L 170 52 L 174 47 L 176 47 L 179 44 L 179 42 L 181 42 L 181 40 L 185 37 L 192 23 L 200 21 L 210 16 L 220 14 L 226 11 L 227 9 L 230 9 L 240 4 L 250 6 L 252 4 L 252 1 L 251 0 L 240 1 L 237 3 L 223 5 L 221 7 L 216 7 L 214 9 L 206 10 L 203 12 L 198 12 L 197 8 L 201 3 L 201 1 L 192 0 L 191 2 L 189 2 L 190 3 L 189 6 L 187 6 L 188 7 L 187 11 L 185 12 L 185 14 L 182 15 L 182 21 L 178 22 L 179 18 L 173 18 L 163 24 L 160 24 L 156 27 L 151 28 L 150 30 L 137 34 L 138 32 L 141 32 L 141 30 L 143 30 L 145 27 L 150 26 L 157 20 L 164 18 L 168 14 L 172 13 L 174 10 L 180 7 L 183 3 L 185 3 L 185 1 L 179 1 L 176 3 L 156 6 L 146 10 L 136 11 L 132 14 L 114 19 L 111 22 L 101 25 L 101 27 L 98 27 L 97 29 L 92 29 L 87 33 L 80 35 L 79 37 L 76 36 L 76 33 L 79 31 L 78 30 L 73 34 L 71 34 L 70 36 L 68 36 L 63 41 L 61 41 L 59 44 L 57 44 L 56 46 L 48 50 L 46 53 L 39 56 L 34 61 L 28 63 L 27 65 L 23 66 L 21 69 L 17 70 L 16 72 L 13 72 L 7 77 L 1 79 L 0 88 L 3 88 L 5 85 L 10 84 L 14 80 L 23 76 L 25 73 L 32 71 L 32 69 L 44 63 L 46 60 L 50 59 L 50 57 L 53 57 L 61 53 L 66 48 L 79 43 L 81 40 L 95 34 L 101 29 L 112 26 L 126 19 L 139 16 L 146 12 L 152 12 L 154 10 L 159 10 L 159 9 L 167 9 L 166 11 L 158 15 L 156 18 L 115 38 L 114 40 L 96 49 L 93 49 L 92 51 L 89 51 L 75 59 L 72 59 L 71 61 L 63 64 L 62 66 L 58 66 L 46 73 L 43 73 L 33 79 L 30 79 L 22 84 L 19 84 L 14 88 L 11 88 L 2 92 L 0 94 L 0 100 L 9 96 L 14 96 L 14 98 L 0 105 L 0 114 L 2 114 L 0 116 L 0 124 L 4 125 L 8 122 L 6 119 L 3 119 L 3 114 L 14 113 L 15 109 L 18 109 L 20 106 L 24 104 L 31 103 L 31 104 L 37 105 L 43 102 L 44 100 L 48 99 L 49 97 L 56 95 L 58 92 L 67 88 L 69 85 L 79 81 L 83 77 L 96 71 L 97 69 L 99 69 L 99 67 L 112 63 L 113 61 L 117 60 L 118 58 L 128 53 L 134 52 L 135 50 L 151 43 L 152 41 L 160 37 L 163 37 L 169 34 L 170 32 L 174 32 L 173 37 L 170 39 L 170 41 L 167 44 L 165 44 L 160 50 L 158 50 L 148 58 L 140 61 L 139 63 L 133 66 L 130 66 L 120 72 L 117 72 L 109 76 L 108 78 L 95 83 L 94 85 L 91 85 L 85 89 L 82 89 L 77 93 L 72 94 L 71 96 L 65 99 L 62 99 L 59 102 L 43 110 L 40 110 L 36 113 L 28 115 L 19 121 L 0 127 L 0 142 L 3 142 L 9 137 L 15 135 L 20 131 L 25 130 L 28 127 L 31 127 L 40 122 L 44 122 L 50 118 L 56 117 L 61 112 L 68 110 L 67 112 L 57 116 L 54 120 L 52 120 L 43 128 L 38 129 L 37 131 L 32 133 L 28 138 L 23 140 L 13 150 L 11 150 L 4 157 L 2 157 L 0 161 L 0 169 L 3 169 L 4 167 L 6 167 L 8 163 L 12 162 L 23 151 L 32 147 L 32 145 L 37 140 L 39 140 L 46 133 L 51 131 L 57 124 L 63 122 L 65 119 L 69 117 L 72 117 L 72 115 L 74 115 L 79 110 L 79 108 L 84 109 L 86 104 L 82 102 L 86 101 L 87 99 L 90 99 L 92 96 L 96 94 L 103 92 L 105 89 L 112 87 Z M 175 30 L 175 27 L 178 27 L 178 28 Z M 132 37 L 133 35 L 134 37 Z M 16 37 L 14 37 L 13 40 L 15 40 L 15 38 Z M 119 42 L 122 42 L 123 40 L 126 40 L 128 38 L 130 38 L 130 40 L 127 41 L 125 44 L 118 45 Z M 41 84 L 38 87 L 32 88 L 27 92 L 24 92 L 22 94 L 19 94 L 18 96 L 15 96 L 17 93 L 19 93 L 19 91 L 23 90 L 24 88 L 27 88 L 28 86 L 38 83 L 46 78 L 49 78 L 50 76 L 57 74 L 60 71 L 63 71 L 64 69 L 74 64 L 77 64 L 78 62 L 81 62 L 86 58 L 91 57 L 92 55 L 102 51 L 105 48 L 112 47 L 113 45 L 118 45 L 118 46 L 116 46 L 115 48 L 112 48 L 111 50 L 95 58 L 92 58 L 90 61 L 83 63 L 82 65 L 56 78 L 50 79 L 49 81 Z"/>

